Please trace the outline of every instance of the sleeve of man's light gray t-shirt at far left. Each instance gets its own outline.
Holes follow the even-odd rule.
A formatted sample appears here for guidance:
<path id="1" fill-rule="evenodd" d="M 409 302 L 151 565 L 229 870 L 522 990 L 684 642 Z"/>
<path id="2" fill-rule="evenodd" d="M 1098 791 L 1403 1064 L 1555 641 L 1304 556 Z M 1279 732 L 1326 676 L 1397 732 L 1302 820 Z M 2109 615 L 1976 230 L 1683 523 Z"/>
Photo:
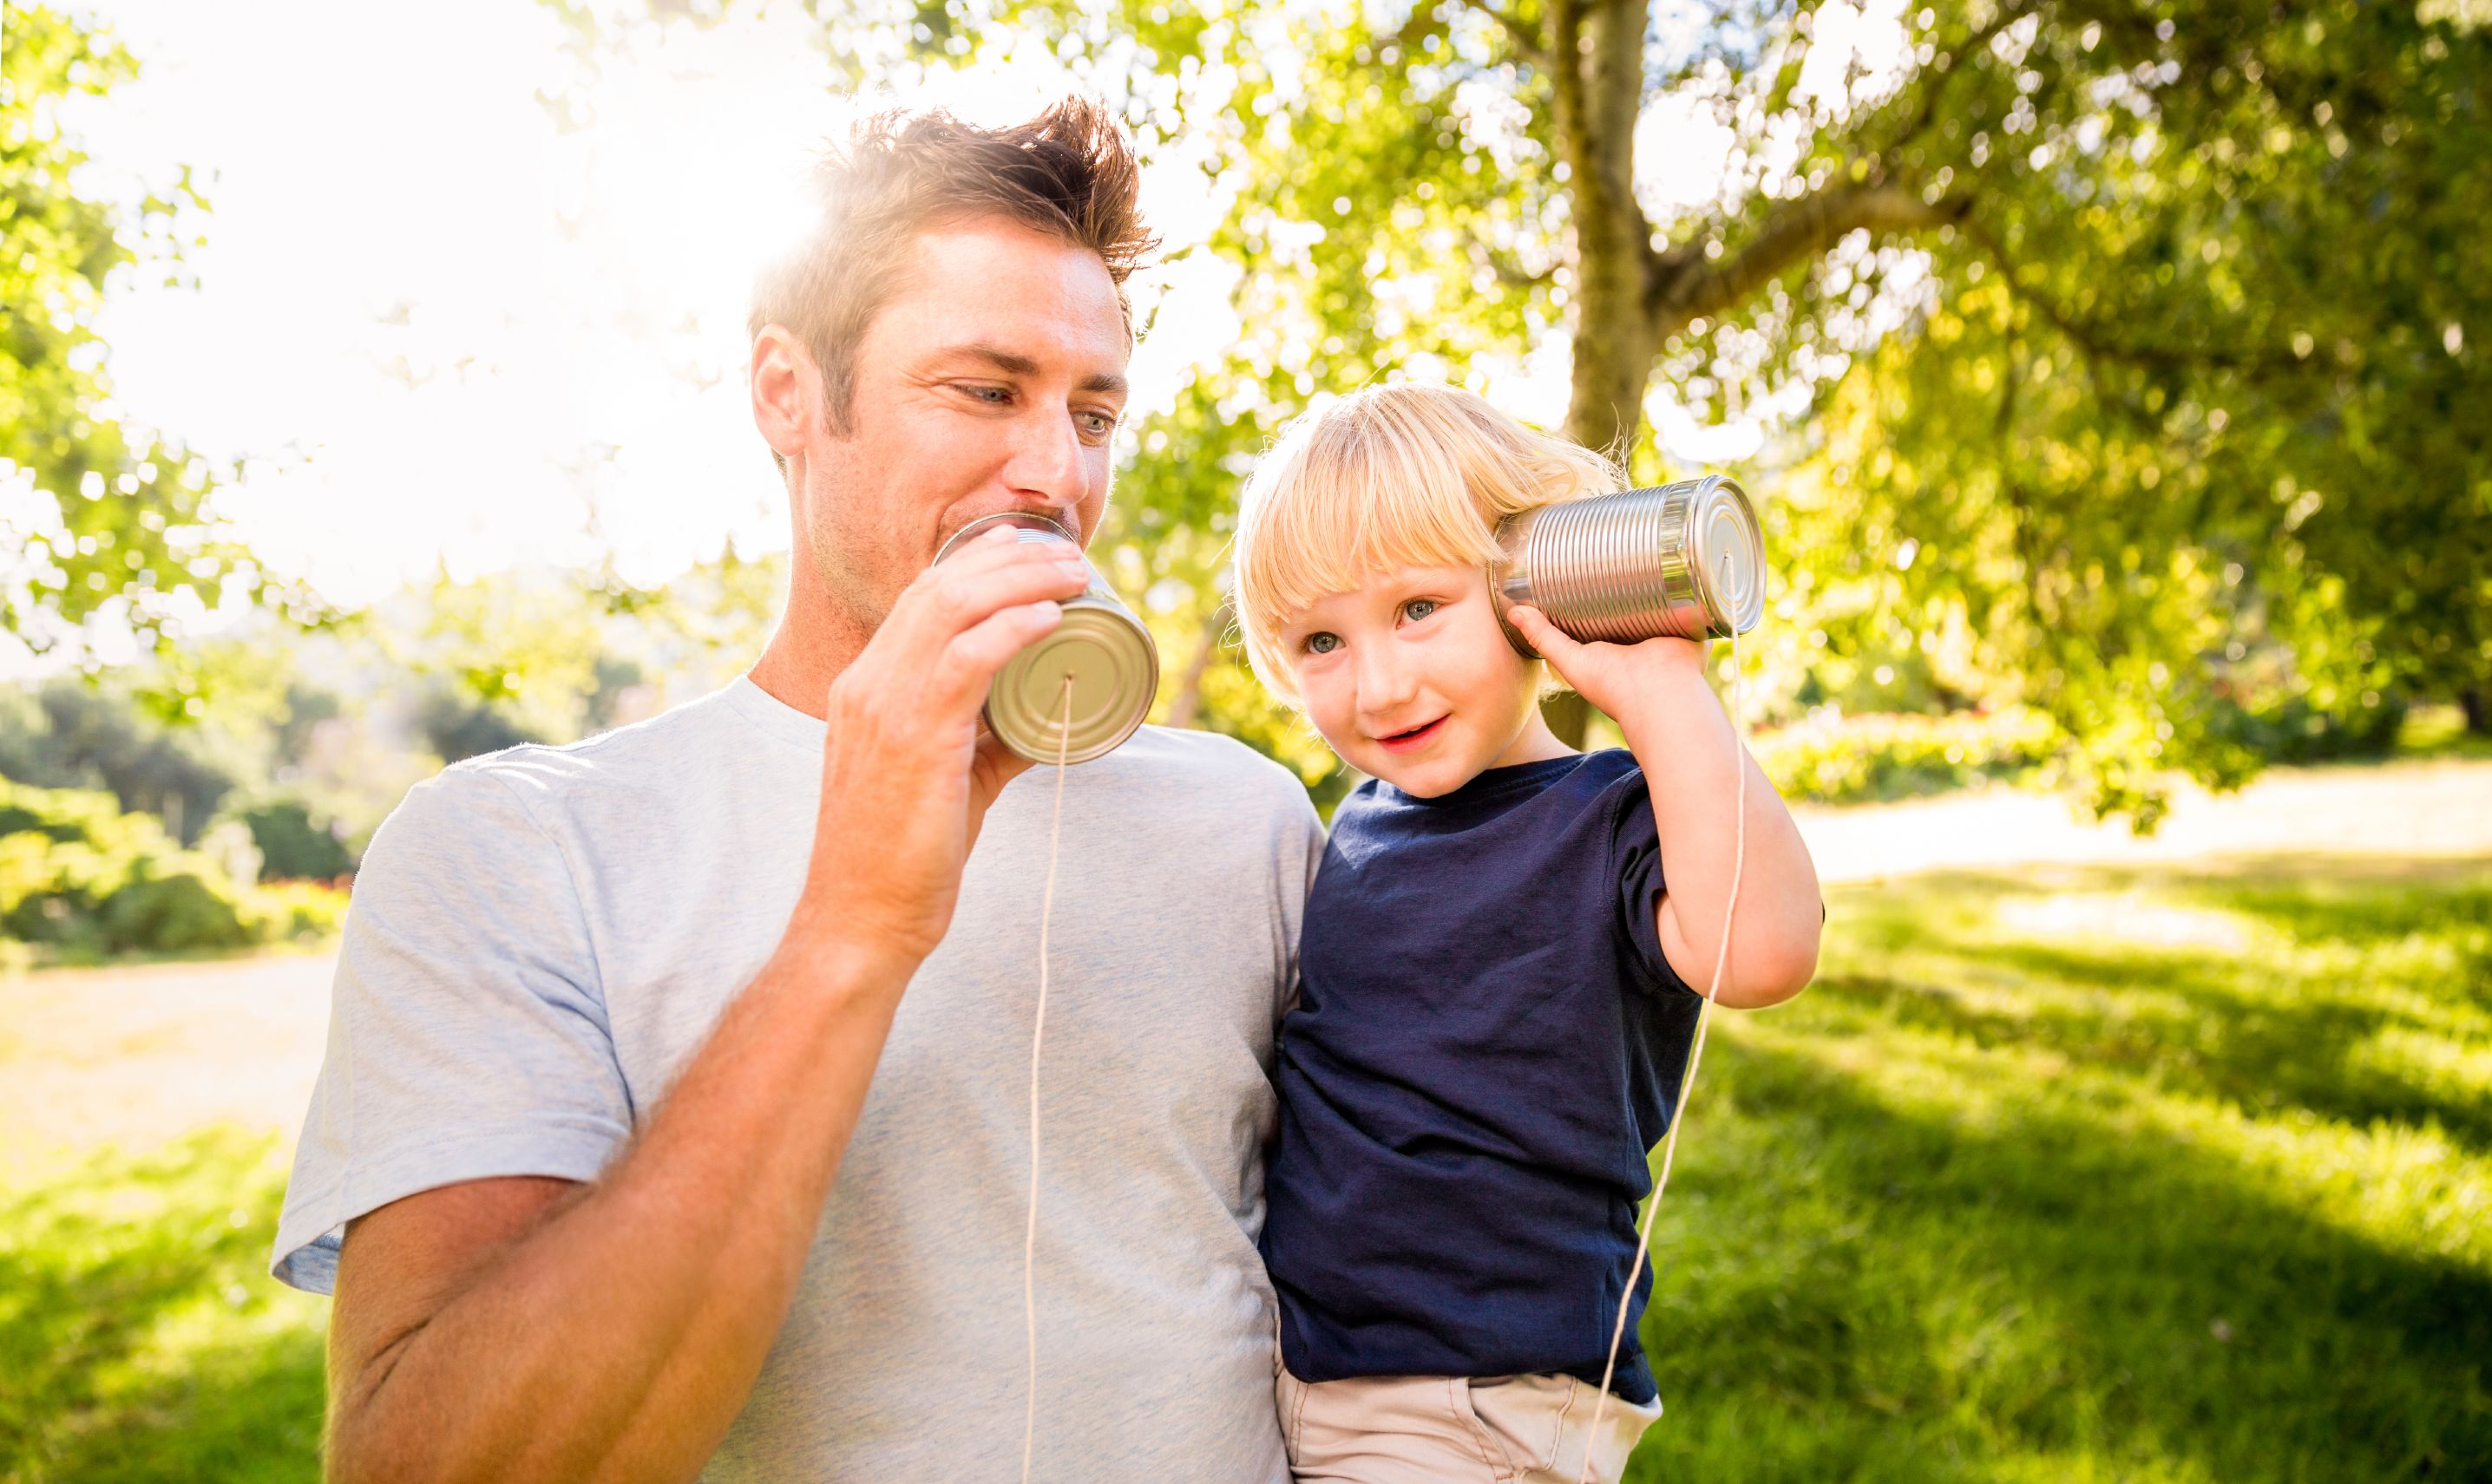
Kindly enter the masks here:
<path id="1" fill-rule="evenodd" d="M 419 784 L 354 881 L 269 1272 L 329 1292 L 349 1220 L 461 1180 L 588 1180 L 630 1120 L 563 852 L 486 769 Z"/>

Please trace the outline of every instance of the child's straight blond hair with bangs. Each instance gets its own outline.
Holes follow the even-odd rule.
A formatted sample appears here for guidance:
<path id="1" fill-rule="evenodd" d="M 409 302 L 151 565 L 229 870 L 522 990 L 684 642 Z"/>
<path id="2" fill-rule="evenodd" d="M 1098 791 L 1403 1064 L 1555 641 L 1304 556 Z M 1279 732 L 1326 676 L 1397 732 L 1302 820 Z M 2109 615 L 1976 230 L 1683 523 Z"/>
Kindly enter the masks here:
<path id="1" fill-rule="evenodd" d="M 1368 386 L 1301 413 L 1246 481 L 1236 603 L 1246 662 L 1298 705 L 1281 625 L 1391 568 L 1500 560 L 1498 523 L 1625 488 L 1615 463 L 1458 386 Z"/>

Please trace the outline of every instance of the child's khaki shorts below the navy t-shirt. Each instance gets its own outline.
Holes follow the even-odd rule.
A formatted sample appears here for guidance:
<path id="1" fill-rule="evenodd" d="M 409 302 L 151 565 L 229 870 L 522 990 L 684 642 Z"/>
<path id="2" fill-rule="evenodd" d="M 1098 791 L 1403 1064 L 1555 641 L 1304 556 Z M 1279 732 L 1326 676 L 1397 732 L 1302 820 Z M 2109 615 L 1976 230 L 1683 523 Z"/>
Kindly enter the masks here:
<path id="1" fill-rule="evenodd" d="M 1662 1414 L 1575 1377 L 1356 1377 L 1301 1382 L 1281 1367 L 1273 1397 L 1296 1484 L 1577 1484 L 1617 1474 Z"/>

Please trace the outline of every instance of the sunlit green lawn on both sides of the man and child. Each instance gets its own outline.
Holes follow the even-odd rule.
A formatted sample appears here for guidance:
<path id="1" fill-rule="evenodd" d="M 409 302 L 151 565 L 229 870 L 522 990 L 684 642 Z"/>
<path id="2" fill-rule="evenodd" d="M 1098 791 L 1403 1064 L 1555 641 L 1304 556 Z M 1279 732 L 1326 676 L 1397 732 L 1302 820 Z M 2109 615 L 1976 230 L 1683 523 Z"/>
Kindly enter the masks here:
<path id="1" fill-rule="evenodd" d="M 2492 1479 L 2492 864 L 2337 871 L 1837 889 L 1707 1058 L 1635 1477 Z M 316 1474 L 277 1155 L 0 1188 L 0 1479 Z"/>

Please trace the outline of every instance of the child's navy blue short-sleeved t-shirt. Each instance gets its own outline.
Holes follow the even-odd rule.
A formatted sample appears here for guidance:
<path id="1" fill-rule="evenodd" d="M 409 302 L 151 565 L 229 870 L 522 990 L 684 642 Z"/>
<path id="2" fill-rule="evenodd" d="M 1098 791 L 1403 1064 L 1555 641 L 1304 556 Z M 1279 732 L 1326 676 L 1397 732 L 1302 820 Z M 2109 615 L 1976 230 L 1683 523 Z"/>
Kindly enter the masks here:
<path id="1" fill-rule="evenodd" d="M 1600 1384 L 1702 1001 L 1627 752 L 1333 814 L 1281 1023 L 1263 1262 L 1298 1379 Z M 1637 1282 L 1612 1387 L 1652 1402 Z"/>

